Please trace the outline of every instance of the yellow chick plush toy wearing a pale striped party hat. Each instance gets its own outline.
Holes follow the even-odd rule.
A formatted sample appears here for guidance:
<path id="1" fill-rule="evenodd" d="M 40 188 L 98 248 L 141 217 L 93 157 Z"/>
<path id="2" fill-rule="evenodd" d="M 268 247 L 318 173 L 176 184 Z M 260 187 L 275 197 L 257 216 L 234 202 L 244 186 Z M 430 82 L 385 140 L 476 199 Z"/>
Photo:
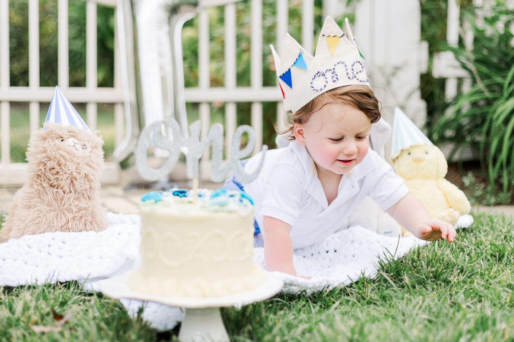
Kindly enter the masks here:
<path id="1" fill-rule="evenodd" d="M 469 213 L 464 192 L 444 178 L 448 164 L 443 152 L 399 108 L 395 109 L 391 158 L 394 170 L 430 217 L 455 225 Z"/>

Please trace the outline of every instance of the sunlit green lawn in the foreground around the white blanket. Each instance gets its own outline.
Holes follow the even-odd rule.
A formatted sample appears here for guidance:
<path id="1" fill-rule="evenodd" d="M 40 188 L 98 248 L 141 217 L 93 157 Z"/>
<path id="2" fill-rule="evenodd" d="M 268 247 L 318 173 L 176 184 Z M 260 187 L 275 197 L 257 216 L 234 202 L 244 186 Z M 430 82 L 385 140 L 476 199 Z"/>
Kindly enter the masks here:
<path id="1" fill-rule="evenodd" d="M 375 279 L 314 295 L 281 293 L 222 309 L 234 341 L 512 341 L 512 220 L 475 215 L 455 243 L 436 242 L 384 260 Z M 1 289 L 1 288 L 0 288 Z M 51 310 L 71 318 L 60 332 Z M 131 319 L 117 300 L 75 283 L 0 290 L 0 340 L 170 340 Z"/>

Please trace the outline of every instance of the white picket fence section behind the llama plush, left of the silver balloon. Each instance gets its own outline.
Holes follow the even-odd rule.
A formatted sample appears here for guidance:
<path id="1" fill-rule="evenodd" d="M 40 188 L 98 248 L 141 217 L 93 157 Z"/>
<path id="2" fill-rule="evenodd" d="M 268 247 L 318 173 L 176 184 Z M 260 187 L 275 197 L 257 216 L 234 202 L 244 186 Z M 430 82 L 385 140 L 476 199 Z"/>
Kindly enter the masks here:
<path id="1" fill-rule="evenodd" d="M 123 134 L 123 91 L 120 64 L 115 63 L 113 88 L 99 88 L 97 74 L 97 4 L 116 6 L 116 0 L 88 0 L 86 4 L 86 86 L 69 87 L 68 55 L 68 0 L 58 0 L 58 85 L 71 103 L 86 104 L 86 122 L 91 130 L 97 127 L 97 104 L 114 104 L 116 138 Z M 18 186 L 25 183 L 27 165 L 12 163 L 10 155 L 10 103 L 29 104 L 30 132 L 40 128 L 40 103 L 48 103 L 53 87 L 40 87 L 39 1 L 28 1 L 29 34 L 29 86 L 10 86 L 9 66 L 9 0 L 0 0 L 0 186 Z M 120 50 L 115 48 L 115 60 Z M 105 163 L 102 183 L 119 182 L 118 163 Z"/>

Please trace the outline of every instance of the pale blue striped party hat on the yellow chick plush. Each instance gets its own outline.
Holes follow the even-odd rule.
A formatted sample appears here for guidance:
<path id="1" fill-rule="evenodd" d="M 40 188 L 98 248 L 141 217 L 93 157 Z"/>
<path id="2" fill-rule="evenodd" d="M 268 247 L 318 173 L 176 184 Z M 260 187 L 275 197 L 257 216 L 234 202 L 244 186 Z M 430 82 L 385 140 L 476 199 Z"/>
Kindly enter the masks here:
<path id="1" fill-rule="evenodd" d="M 401 150 L 416 145 L 434 145 L 412 120 L 396 107 L 394 109 L 391 159 L 396 158 Z"/>

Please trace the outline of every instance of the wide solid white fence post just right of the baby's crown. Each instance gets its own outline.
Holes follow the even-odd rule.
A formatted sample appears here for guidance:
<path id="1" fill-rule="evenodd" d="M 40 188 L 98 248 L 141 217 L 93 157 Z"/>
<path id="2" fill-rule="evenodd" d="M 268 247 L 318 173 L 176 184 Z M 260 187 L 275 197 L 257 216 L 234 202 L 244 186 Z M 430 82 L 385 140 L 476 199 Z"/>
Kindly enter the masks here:
<path id="1" fill-rule="evenodd" d="M 418 0 L 361 0 L 356 5 L 354 36 L 365 57 L 370 84 L 382 103 L 382 117 L 392 123 L 399 106 L 418 127 L 426 121 L 419 75 L 423 70 L 421 9 Z M 385 146 L 389 158 L 390 142 Z"/>

